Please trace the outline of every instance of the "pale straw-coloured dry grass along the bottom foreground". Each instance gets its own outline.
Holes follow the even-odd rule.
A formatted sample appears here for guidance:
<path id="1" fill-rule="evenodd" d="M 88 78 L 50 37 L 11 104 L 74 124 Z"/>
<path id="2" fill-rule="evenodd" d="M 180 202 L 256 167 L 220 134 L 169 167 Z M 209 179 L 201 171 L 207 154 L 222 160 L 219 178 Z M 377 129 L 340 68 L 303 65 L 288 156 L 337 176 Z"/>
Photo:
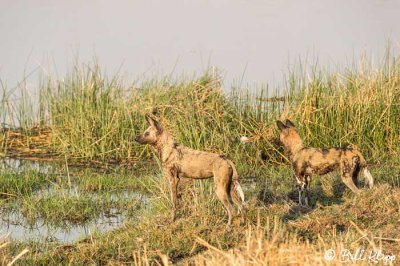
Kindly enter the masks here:
<path id="1" fill-rule="evenodd" d="M 365 232 L 357 228 L 352 233 L 351 239 L 365 238 Z M 347 242 L 337 239 L 323 239 L 319 237 L 314 243 L 304 241 L 292 233 L 288 233 L 285 226 L 275 220 L 271 230 L 264 227 L 248 226 L 245 232 L 245 240 L 242 244 L 224 250 L 209 244 L 207 241 L 197 238 L 199 245 L 207 248 L 207 251 L 192 258 L 179 261 L 178 265 L 208 265 L 208 266 L 243 266 L 243 265 L 371 265 L 371 262 L 384 264 L 384 258 L 369 257 L 371 252 L 383 250 L 374 237 L 368 238 L 368 244 L 360 245 L 359 241 Z M 365 255 L 357 255 L 357 249 L 365 250 Z M 348 250 L 348 251 L 347 251 Z M 385 250 L 383 250 L 386 252 Z M 326 253 L 333 252 L 332 259 L 327 259 Z M 350 253 L 349 253 L 350 252 Z M 159 260 L 150 260 L 147 247 L 141 252 L 134 252 L 133 265 L 172 265 L 171 260 L 165 254 L 157 252 Z M 332 253 L 329 253 L 332 254 Z M 351 258 L 351 254 L 354 256 Z M 360 254 L 360 253 L 359 253 Z M 373 253 L 372 253 L 373 254 Z M 388 255 L 389 253 L 384 253 Z M 396 265 L 397 256 L 390 253 L 386 265 Z M 391 260 L 393 260 L 391 262 Z M 378 264 L 376 263 L 376 264 Z M 114 263 L 111 263 L 113 265 Z M 115 264 L 120 265 L 120 264 Z"/>

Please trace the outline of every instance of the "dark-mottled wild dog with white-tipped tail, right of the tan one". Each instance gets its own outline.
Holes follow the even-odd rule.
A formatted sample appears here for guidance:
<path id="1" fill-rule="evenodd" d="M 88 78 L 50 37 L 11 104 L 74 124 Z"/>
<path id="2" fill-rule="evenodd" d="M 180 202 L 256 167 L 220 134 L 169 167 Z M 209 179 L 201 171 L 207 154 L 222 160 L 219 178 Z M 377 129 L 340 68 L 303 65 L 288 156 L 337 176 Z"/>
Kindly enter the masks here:
<path id="1" fill-rule="evenodd" d="M 354 193 L 358 193 L 358 174 L 363 171 L 366 183 L 371 188 L 374 184 L 371 173 L 362 154 L 351 147 L 342 148 L 307 148 L 295 125 L 288 119 L 285 124 L 276 121 L 280 130 L 279 139 L 289 153 L 294 168 L 295 178 L 299 186 L 299 203 L 308 205 L 308 189 L 311 176 L 324 175 L 340 168 L 342 181 Z"/>

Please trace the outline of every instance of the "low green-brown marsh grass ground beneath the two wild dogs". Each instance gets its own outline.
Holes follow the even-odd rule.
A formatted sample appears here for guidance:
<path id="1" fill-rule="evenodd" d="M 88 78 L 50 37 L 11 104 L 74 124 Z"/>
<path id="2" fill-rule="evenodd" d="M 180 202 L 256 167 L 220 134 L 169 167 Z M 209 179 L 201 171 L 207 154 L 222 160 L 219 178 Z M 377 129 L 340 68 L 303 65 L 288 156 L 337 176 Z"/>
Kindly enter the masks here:
<path id="1" fill-rule="evenodd" d="M 50 193 L 35 197 L 33 194 L 25 194 L 20 199 L 22 206 L 24 202 L 32 205 L 28 205 L 26 210 L 29 211 L 22 214 L 27 219 L 34 220 L 40 216 L 40 219 L 60 225 L 60 221 L 85 222 L 90 216 L 119 206 L 127 214 L 127 219 L 121 227 L 105 233 L 94 232 L 89 239 L 82 239 L 73 244 L 13 242 L 3 256 L 11 258 L 22 247 L 29 247 L 31 253 L 21 260 L 23 264 L 56 265 L 71 261 L 103 264 L 110 260 L 124 263 L 134 259 L 133 251 L 143 252 L 143 248 L 146 247 L 146 256 L 150 261 L 159 260 L 161 252 L 168 256 L 170 261 L 184 262 L 191 257 L 197 258 L 196 255 L 207 254 L 204 252 L 208 249 L 198 242 L 199 238 L 206 241 L 205 243 L 226 250 L 244 244 L 246 234 L 249 233 L 247 230 L 250 228 L 261 230 L 267 238 L 271 237 L 269 234 L 276 234 L 278 230 L 279 237 L 283 238 L 275 245 L 296 238 L 297 241 L 311 243 L 315 248 L 319 245 L 321 237 L 324 241 L 339 241 L 350 245 L 351 241 L 360 237 L 353 223 L 375 236 L 397 239 L 400 237 L 395 230 L 400 219 L 399 187 L 396 184 L 388 184 L 390 182 L 387 173 L 390 170 L 393 170 L 392 166 L 385 169 L 372 168 L 377 188 L 365 190 L 360 196 L 346 191 L 336 174 L 315 180 L 311 191 L 313 208 L 299 209 L 295 202 L 296 197 L 291 196 L 294 191 L 292 180 L 287 178 L 290 168 L 265 167 L 259 176 L 249 176 L 243 180 L 249 210 L 247 222 L 243 226 L 235 220 L 232 229 L 226 228 L 226 217 L 214 195 L 211 181 L 186 180 L 181 184 L 179 219 L 171 223 L 168 185 L 161 175 L 139 176 L 140 179 L 152 179 L 143 185 L 148 196 L 146 202 L 140 202 L 131 195 L 111 199 L 109 193 L 115 193 L 115 187 L 112 185 L 109 189 L 107 186 L 100 186 L 102 190 L 94 192 L 100 193 L 96 198 L 99 201 L 95 201 L 88 196 L 93 193 L 91 187 L 85 192 L 86 183 L 82 180 L 86 177 L 80 176 L 79 181 L 74 184 L 75 191 L 80 193 L 79 196 Z M 88 180 L 92 180 L 96 175 L 98 174 L 89 175 Z M 117 178 L 111 174 L 98 180 L 102 180 L 99 181 L 102 184 L 109 184 Z M 137 179 L 127 177 L 127 180 L 130 178 Z M 397 184 L 399 181 L 400 177 L 397 176 Z M 115 184 L 118 185 L 118 182 Z M 133 191 L 136 189 L 137 187 Z M 387 214 L 390 219 L 382 222 L 378 219 L 382 213 Z M 30 217 L 31 214 L 33 217 Z M 367 242 L 362 243 L 368 245 Z M 383 242 L 382 245 L 387 252 L 400 251 L 393 243 Z"/>

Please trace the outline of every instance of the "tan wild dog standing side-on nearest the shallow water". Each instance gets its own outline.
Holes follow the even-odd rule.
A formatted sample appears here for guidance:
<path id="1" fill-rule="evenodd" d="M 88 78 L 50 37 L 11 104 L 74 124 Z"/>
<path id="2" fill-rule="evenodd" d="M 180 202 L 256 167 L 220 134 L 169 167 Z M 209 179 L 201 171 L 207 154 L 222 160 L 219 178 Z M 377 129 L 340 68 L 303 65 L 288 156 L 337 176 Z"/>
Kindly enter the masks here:
<path id="1" fill-rule="evenodd" d="M 223 155 L 184 147 L 178 144 L 157 120 L 148 115 L 146 120 L 149 128 L 143 135 L 137 136 L 135 141 L 149 144 L 161 161 L 164 176 L 168 179 L 171 189 L 172 220 L 176 216 L 177 187 L 181 177 L 196 179 L 214 177 L 217 197 L 228 212 L 228 225 L 232 223 L 234 212 L 231 199 L 238 206 L 238 212 L 242 213 L 244 220 L 244 194 L 234 164 Z"/>

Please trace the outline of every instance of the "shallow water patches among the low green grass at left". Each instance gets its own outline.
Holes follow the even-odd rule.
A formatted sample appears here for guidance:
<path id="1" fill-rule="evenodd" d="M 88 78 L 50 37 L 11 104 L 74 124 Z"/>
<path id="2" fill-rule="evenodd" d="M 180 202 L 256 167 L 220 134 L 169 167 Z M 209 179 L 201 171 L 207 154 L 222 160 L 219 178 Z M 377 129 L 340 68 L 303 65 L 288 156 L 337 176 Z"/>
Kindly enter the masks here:
<path id="1" fill-rule="evenodd" d="M 54 173 L 60 170 L 59 165 L 48 162 L 25 161 L 18 159 L 0 160 L 0 169 L 7 171 L 23 171 L 34 170 L 40 173 Z M 52 195 L 79 196 L 80 194 L 88 195 L 88 192 L 80 191 L 75 184 L 71 186 L 59 187 L 57 184 L 44 187 L 33 193 L 35 197 L 48 197 Z M 93 199 L 100 197 L 101 194 L 90 193 Z M 108 192 L 107 196 L 111 200 L 129 199 L 138 201 L 141 205 L 146 206 L 148 199 L 144 195 L 134 191 L 118 191 Z M 18 204 L 18 203 L 16 203 Z M 56 241 L 59 243 L 72 243 L 87 237 L 94 232 L 105 233 L 116 229 L 123 225 L 128 219 L 126 212 L 116 209 L 105 209 L 97 218 L 91 219 L 84 224 L 64 223 L 63 225 L 54 225 L 46 223 L 43 219 L 36 219 L 34 223 L 29 223 L 23 214 L 17 211 L 5 212 L 0 208 L 0 236 L 7 236 L 11 240 L 17 241 Z"/>

